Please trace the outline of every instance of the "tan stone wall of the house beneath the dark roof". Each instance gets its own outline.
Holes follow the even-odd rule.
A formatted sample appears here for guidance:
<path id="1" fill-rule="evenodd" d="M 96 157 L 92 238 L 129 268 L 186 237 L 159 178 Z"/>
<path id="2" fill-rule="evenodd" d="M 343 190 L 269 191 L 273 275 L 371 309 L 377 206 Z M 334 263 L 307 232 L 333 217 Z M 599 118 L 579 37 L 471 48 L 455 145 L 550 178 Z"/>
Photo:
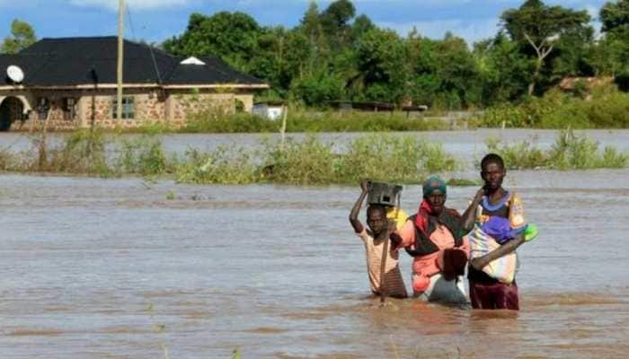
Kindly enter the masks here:
<path id="1" fill-rule="evenodd" d="M 0 92 L 17 95 L 16 91 Z M 251 111 L 252 93 L 219 93 L 214 90 L 159 91 L 155 89 L 126 89 L 124 96 L 131 96 L 134 103 L 134 118 L 114 118 L 113 101 L 115 89 L 84 89 L 74 91 L 19 92 L 22 102 L 31 109 L 22 119 L 15 118 L 11 129 L 40 128 L 48 119 L 50 130 L 68 130 L 78 127 L 122 127 L 132 128 L 157 122 L 173 127 L 183 127 L 187 119 L 195 114 L 231 114 L 237 101 L 244 110 Z M 45 98 L 45 110 L 40 111 L 40 99 Z M 66 99 L 72 99 L 70 103 Z"/>

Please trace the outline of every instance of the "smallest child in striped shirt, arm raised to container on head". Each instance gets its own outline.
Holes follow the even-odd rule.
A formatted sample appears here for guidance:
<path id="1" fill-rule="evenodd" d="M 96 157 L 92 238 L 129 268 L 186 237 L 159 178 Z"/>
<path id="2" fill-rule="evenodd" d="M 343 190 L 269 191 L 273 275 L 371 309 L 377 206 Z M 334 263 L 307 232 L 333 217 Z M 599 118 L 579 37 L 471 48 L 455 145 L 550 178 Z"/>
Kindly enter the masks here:
<path id="1" fill-rule="evenodd" d="M 394 298 L 406 298 L 406 287 L 400 273 L 399 254 L 394 245 L 388 243 L 390 234 L 395 230 L 395 224 L 386 218 L 386 206 L 370 205 L 367 208 L 367 224 L 366 229 L 358 219 L 360 207 L 369 192 L 369 183 L 367 180 L 360 180 L 359 199 L 354 204 L 350 212 L 350 223 L 359 238 L 365 244 L 365 252 L 367 255 L 367 271 L 369 283 L 371 284 L 371 292 L 376 295 L 384 295 Z M 386 244 L 386 245 L 385 245 Z M 385 267 L 382 271 L 383 252 L 386 248 L 386 257 L 384 260 Z M 381 277 L 384 273 L 384 277 Z M 384 287 L 382 285 L 384 279 Z"/>

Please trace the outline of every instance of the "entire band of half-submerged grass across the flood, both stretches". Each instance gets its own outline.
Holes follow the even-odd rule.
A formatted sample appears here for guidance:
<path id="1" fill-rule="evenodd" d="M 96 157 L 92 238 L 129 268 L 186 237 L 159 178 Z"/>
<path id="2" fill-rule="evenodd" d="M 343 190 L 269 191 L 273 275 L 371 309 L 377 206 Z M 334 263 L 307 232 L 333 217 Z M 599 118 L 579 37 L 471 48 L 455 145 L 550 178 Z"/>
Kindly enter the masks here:
<path id="1" fill-rule="evenodd" d="M 0 171 L 54 172 L 100 177 L 140 175 L 169 177 L 195 184 L 284 183 L 327 185 L 356 183 L 360 178 L 418 183 L 433 173 L 461 169 L 456 158 L 439 143 L 417 136 L 369 134 L 349 143 L 334 144 L 315 135 L 285 143 L 267 140 L 256 149 L 236 144 L 210 152 L 190 149 L 167 156 L 157 136 L 116 139 L 100 130 L 67 134 L 56 144 L 36 136 L 31 151 L 0 149 Z M 571 130 L 562 131 L 550 149 L 533 142 L 487 143 L 509 169 L 547 168 L 585 170 L 623 168 L 629 155 Z M 454 180 L 451 185 L 470 185 Z M 476 184 L 476 183 L 474 183 Z"/>

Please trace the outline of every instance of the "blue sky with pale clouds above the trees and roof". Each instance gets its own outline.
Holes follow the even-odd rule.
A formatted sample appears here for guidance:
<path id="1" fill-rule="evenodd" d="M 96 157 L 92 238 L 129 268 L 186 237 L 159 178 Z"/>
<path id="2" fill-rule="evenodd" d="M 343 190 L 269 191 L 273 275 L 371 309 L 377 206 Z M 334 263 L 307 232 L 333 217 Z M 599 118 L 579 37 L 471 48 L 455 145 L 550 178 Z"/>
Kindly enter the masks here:
<path id="1" fill-rule="evenodd" d="M 17 18 L 31 23 L 39 38 L 104 36 L 117 31 L 119 0 L 0 0 L 0 36 L 9 34 Z M 181 34 L 190 13 L 241 11 L 262 25 L 292 27 L 306 11 L 308 0 L 126 0 L 125 37 L 161 42 Z M 473 42 L 491 37 L 500 14 L 523 0 L 354 0 L 357 13 L 365 13 L 378 26 L 406 35 L 413 26 L 423 36 L 442 38 L 446 31 Z M 606 0 L 547 0 L 593 17 Z M 318 1 L 323 10 L 330 1 Z M 594 24 L 598 28 L 598 24 Z"/>

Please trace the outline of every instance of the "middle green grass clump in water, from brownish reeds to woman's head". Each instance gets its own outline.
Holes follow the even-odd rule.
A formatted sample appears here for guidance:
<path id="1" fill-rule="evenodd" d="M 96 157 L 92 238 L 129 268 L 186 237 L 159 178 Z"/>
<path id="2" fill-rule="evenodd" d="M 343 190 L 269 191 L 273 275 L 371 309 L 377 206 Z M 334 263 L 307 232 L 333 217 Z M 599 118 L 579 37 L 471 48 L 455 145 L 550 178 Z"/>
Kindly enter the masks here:
<path id="1" fill-rule="evenodd" d="M 267 141 L 257 153 L 235 146 L 222 146 L 211 153 L 190 151 L 176 175 L 177 180 L 190 183 L 321 185 L 356 183 L 362 177 L 409 183 L 457 167 L 455 158 L 440 144 L 412 136 L 361 136 L 342 154 L 333 148 L 332 143 L 308 136 L 285 144 Z"/>

